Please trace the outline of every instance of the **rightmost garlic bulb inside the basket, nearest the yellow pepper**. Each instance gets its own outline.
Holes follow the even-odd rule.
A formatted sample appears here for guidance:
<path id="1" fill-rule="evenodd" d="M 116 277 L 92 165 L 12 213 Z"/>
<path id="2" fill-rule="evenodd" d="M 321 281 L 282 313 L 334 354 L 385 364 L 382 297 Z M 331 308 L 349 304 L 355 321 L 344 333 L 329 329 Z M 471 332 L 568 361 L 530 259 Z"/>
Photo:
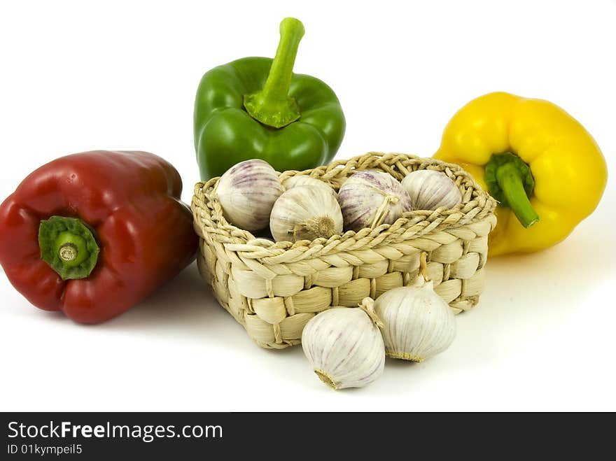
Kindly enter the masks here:
<path id="1" fill-rule="evenodd" d="M 449 176 L 440 171 L 417 170 L 402 180 L 414 210 L 453 208 L 462 201 L 462 194 Z"/>

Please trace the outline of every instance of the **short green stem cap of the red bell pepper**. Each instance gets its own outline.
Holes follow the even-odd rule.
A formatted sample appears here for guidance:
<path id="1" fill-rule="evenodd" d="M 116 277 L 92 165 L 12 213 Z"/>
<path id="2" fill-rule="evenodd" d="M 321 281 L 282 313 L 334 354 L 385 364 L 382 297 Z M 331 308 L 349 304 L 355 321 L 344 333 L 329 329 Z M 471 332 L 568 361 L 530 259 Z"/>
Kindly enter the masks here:
<path id="1" fill-rule="evenodd" d="M 62 277 L 85 278 L 97 264 L 100 248 L 94 230 L 82 220 L 52 216 L 38 226 L 41 259 Z"/>

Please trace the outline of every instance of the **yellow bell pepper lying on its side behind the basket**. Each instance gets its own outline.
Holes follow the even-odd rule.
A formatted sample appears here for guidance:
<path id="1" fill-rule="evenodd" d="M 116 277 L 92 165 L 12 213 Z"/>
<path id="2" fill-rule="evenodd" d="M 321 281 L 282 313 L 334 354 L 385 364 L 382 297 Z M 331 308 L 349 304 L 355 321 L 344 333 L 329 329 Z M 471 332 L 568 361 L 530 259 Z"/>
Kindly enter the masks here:
<path id="1" fill-rule="evenodd" d="M 489 255 L 559 243 L 598 205 L 608 172 L 592 136 L 548 101 L 505 92 L 460 109 L 434 157 L 459 164 L 499 201 Z"/>

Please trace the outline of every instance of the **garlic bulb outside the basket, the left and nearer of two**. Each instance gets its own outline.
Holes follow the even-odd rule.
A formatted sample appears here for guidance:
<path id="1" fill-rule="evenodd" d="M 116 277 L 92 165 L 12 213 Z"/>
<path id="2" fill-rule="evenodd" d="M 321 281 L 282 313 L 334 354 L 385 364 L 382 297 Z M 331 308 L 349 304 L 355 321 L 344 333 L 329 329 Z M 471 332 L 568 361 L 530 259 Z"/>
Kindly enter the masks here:
<path id="1" fill-rule="evenodd" d="M 385 346 L 372 306 L 335 307 L 302 332 L 302 348 L 316 376 L 334 389 L 360 388 L 383 374 Z"/>

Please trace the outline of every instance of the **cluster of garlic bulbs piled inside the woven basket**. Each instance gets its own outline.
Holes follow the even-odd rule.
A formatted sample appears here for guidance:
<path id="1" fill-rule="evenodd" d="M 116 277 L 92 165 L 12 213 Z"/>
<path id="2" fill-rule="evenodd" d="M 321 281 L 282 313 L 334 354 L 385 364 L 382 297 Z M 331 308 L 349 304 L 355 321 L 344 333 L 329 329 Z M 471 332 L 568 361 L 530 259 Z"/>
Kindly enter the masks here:
<path id="1" fill-rule="evenodd" d="M 216 195 L 232 225 L 258 231 L 269 222 L 277 242 L 329 239 L 344 229 L 358 232 L 392 224 L 414 209 L 413 201 L 421 210 L 451 208 L 462 200 L 458 186 L 438 171 L 412 171 L 402 184 L 382 171 L 357 171 L 336 193 L 327 183 L 304 175 L 286 178 L 282 185 L 274 169 L 260 159 L 240 162 L 223 174 Z"/>

